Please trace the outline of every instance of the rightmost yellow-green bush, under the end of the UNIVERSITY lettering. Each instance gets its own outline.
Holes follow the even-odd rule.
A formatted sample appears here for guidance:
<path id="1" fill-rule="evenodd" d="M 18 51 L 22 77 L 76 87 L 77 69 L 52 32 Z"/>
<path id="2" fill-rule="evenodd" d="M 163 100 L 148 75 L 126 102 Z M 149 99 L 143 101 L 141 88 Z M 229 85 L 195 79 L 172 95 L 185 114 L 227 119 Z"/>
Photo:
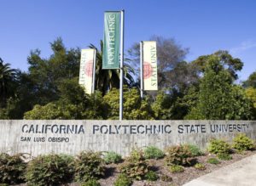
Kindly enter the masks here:
<path id="1" fill-rule="evenodd" d="M 245 133 L 240 133 L 233 139 L 232 147 L 238 151 L 253 149 L 253 139 L 248 138 Z"/>

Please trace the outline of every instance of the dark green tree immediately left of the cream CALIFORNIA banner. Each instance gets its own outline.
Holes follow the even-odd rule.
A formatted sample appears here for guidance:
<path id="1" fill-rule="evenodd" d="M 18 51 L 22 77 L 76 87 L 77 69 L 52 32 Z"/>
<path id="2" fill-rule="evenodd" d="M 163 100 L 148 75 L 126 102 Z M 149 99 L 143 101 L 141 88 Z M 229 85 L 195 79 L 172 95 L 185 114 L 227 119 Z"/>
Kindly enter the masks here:
<path id="1" fill-rule="evenodd" d="M 59 99 L 58 85 L 65 79 L 79 76 L 80 49 L 65 48 L 61 38 L 50 43 L 53 54 L 42 59 L 38 49 L 28 57 L 28 78 L 31 91 L 38 97 L 36 104 L 48 104 Z"/>

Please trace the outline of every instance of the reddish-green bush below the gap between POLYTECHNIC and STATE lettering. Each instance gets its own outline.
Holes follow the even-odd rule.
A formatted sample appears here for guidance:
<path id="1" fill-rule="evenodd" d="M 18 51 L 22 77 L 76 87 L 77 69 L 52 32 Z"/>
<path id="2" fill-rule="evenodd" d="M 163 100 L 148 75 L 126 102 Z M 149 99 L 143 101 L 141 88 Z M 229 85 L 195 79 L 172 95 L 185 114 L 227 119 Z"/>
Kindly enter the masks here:
<path id="1" fill-rule="evenodd" d="M 166 165 L 180 165 L 180 166 L 188 166 L 196 161 L 195 158 L 192 157 L 192 154 L 189 150 L 188 146 L 171 146 L 166 148 Z"/>

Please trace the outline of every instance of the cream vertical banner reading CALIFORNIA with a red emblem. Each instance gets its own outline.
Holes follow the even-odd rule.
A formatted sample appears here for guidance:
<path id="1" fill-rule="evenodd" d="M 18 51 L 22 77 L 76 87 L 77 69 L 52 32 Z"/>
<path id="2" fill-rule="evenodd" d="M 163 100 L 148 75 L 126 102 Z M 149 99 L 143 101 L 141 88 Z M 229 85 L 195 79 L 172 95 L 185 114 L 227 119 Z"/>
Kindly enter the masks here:
<path id="1" fill-rule="evenodd" d="M 79 85 L 85 88 L 85 93 L 92 93 L 94 56 L 96 49 L 82 49 L 79 71 Z"/>

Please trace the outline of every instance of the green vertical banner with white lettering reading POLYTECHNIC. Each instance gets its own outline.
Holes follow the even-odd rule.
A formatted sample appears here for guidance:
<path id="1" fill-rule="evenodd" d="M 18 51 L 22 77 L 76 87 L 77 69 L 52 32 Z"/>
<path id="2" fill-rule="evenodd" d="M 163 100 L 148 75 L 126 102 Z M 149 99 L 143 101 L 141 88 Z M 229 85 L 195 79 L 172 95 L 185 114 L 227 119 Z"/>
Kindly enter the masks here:
<path id="1" fill-rule="evenodd" d="M 102 69 L 119 69 L 120 12 L 105 12 Z"/>

